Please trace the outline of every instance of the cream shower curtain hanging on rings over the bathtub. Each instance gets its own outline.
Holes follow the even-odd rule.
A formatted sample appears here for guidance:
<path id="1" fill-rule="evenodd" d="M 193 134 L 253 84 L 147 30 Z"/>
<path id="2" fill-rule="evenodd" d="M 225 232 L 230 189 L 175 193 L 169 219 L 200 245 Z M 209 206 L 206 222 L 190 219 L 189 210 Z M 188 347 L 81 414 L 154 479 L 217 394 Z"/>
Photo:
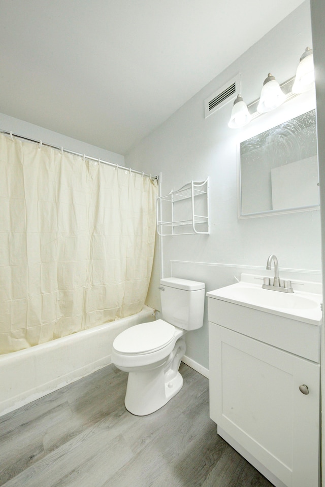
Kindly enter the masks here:
<path id="1" fill-rule="evenodd" d="M 0 353 L 133 315 L 156 181 L 0 134 Z"/>

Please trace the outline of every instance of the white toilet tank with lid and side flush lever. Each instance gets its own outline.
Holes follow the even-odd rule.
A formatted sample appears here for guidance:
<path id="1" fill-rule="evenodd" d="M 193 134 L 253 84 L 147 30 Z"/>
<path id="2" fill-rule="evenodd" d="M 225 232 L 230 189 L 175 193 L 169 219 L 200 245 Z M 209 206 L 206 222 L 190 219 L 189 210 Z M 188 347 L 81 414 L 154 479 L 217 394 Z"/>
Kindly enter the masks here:
<path id="1" fill-rule="evenodd" d="M 196 330 L 202 327 L 204 297 L 204 283 L 178 277 L 160 279 L 163 318 L 183 330 Z"/>

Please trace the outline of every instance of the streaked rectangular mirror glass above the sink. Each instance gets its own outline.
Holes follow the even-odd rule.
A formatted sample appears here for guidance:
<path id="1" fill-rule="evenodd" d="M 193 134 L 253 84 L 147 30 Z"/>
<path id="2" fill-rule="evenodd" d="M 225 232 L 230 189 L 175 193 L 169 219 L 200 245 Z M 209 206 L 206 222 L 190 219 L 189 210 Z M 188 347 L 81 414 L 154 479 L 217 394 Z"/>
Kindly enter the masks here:
<path id="1" fill-rule="evenodd" d="M 315 110 L 240 144 L 240 216 L 319 205 Z"/>

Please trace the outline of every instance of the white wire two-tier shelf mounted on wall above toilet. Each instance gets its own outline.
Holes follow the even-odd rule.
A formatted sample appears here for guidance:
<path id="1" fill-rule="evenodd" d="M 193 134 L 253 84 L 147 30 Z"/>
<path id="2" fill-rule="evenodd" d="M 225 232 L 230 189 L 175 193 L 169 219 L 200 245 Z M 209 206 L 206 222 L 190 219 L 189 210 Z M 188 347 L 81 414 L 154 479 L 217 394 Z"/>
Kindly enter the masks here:
<path id="1" fill-rule="evenodd" d="M 160 236 L 210 234 L 209 178 L 157 197 L 157 232 Z"/>

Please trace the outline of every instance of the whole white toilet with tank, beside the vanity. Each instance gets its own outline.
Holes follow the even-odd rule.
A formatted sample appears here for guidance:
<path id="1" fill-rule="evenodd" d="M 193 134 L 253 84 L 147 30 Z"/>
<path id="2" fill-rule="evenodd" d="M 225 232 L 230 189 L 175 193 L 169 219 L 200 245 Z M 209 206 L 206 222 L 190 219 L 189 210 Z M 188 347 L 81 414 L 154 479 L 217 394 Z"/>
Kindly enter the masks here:
<path id="1" fill-rule="evenodd" d="M 203 325 L 205 285 L 169 277 L 160 280 L 165 320 L 141 323 L 113 342 L 113 364 L 128 372 L 125 407 L 145 416 L 163 407 L 183 386 L 178 372 L 186 345 L 183 335 Z"/>

